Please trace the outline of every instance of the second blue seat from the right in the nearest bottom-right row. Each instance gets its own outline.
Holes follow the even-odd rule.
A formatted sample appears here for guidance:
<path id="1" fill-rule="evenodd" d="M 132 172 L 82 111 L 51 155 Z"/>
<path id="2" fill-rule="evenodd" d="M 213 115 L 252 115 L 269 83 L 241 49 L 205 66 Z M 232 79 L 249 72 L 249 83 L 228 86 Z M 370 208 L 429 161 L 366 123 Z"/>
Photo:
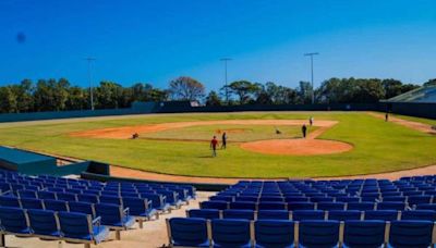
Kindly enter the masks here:
<path id="1" fill-rule="evenodd" d="M 384 243 L 384 221 L 346 221 L 342 247 L 382 247 Z"/>

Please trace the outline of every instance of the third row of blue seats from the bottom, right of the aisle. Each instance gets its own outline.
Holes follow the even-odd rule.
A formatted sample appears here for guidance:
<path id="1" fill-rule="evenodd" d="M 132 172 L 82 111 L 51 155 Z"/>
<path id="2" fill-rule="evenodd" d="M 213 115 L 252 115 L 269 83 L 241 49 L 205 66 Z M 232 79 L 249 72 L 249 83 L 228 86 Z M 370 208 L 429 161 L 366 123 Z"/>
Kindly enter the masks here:
<path id="1" fill-rule="evenodd" d="M 433 206 L 433 204 L 432 204 Z M 202 209 L 247 209 L 247 210 L 408 210 L 408 203 L 396 201 L 383 202 L 275 202 L 275 201 L 203 201 Z M 416 206 L 414 206 L 416 208 Z"/>

